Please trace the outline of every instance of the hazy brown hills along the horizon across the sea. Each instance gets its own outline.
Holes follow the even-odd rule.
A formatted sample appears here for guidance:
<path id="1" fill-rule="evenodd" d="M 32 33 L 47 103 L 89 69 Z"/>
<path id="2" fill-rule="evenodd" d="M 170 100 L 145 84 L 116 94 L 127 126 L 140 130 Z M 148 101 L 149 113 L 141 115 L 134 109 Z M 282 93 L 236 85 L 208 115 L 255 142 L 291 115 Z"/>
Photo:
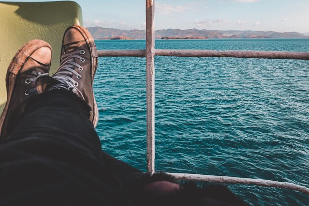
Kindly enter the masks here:
<path id="1" fill-rule="evenodd" d="M 128 40 L 146 39 L 145 30 L 120 30 L 103 27 L 88 27 L 94 39 L 97 40 Z M 274 31 L 238 31 L 238 30 L 206 30 L 206 29 L 162 29 L 155 31 L 155 39 L 282 39 L 282 38 L 309 38 L 309 33 L 274 32 Z"/>

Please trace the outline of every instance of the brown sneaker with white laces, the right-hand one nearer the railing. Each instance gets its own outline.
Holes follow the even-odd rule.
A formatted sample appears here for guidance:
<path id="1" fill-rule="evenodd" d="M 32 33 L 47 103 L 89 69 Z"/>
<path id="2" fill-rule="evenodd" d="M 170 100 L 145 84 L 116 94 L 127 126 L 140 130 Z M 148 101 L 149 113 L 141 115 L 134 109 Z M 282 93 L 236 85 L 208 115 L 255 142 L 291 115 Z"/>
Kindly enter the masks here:
<path id="1" fill-rule="evenodd" d="M 94 127 L 98 124 L 98 107 L 92 84 L 98 66 L 98 52 L 88 30 L 79 25 L 70 26 L 64 33 L 59 70 L 52 76 L 59 84 L 54 88 L 72 90 L 90 107 L 90 118 Z"/>

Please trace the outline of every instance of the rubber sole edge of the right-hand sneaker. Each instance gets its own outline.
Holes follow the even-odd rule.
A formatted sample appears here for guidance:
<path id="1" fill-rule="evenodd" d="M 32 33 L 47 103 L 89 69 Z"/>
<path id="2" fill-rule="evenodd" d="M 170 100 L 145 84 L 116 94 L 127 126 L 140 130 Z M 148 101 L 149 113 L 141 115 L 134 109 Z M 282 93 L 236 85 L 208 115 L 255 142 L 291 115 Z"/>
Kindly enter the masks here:
<path id="1" fill-rule="evenodd" d="M 94 43 L 94 40 L 93 40 L 93 37 L 92 35 L 89 33 L 89 31 L 82 27 L 82 26 L 79 26 L 79 25 L 73 25 L 73 26 L 70 26 L 66 31 L 65 33 L 71 29 L 71 28 L 74 28 L 76 30 L 78 30 L 80 32 L 80 34 L 85 38 L 86 42 L 87 42 L 87 45 L 90 47 L 90 52 L 91 52 L 91 56 L 95 56 L 97 58 L 91 58 L 91 63 L 92 63 L 92 66 L 95 65 L 95 68 L 94 68 L 94 71 L 92 71 L 92 68 L 91 68 L 91 73 L 92 73 L 92 86 L 93 86 L 93 80 L 94 80 L 94 76 L 95 76 L 95 73 L 97 71 L 97 67 L 98 67 L 98 53 L 97 53 L 97 47 Z M 63 45 L 63 41 L 64 41 L 64 38 L 62 40 L 62 45 Z M 92 50 L 92 48 L 94 50 Z M 94 55 L 93 52 L 96 52 L 96 54 Z M 60 60 L 61 61 L 61 60 Z M 99 122 L 99 110 L 98 110 L 98 105 L 97 105 L 97 102 L 95 100 L 95 96 L 94 96 L 94 93 L 93 93 L 93 89 L 92 89 L 92 94 L 93 94 L 93 109 L 94 109 L 94 115 L 93 115 L 93 120 L 91 121 L 94 128 L 97 126 L 98 122 Z"/>

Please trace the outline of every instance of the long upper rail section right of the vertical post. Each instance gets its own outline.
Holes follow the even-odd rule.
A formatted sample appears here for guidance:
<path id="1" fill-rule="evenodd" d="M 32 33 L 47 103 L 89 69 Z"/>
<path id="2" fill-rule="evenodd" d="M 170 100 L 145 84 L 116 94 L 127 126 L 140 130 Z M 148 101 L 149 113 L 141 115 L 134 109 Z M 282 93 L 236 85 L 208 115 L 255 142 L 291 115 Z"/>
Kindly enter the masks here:
<path id="1" fill-rule="evenodd" d="M 156 56 L 181 57 L 235 57 L 259 59 L 303 59 L 309 60 L 309 52 L 293 51 L 216 51 L 198 49 L 156 49 Z"/>

